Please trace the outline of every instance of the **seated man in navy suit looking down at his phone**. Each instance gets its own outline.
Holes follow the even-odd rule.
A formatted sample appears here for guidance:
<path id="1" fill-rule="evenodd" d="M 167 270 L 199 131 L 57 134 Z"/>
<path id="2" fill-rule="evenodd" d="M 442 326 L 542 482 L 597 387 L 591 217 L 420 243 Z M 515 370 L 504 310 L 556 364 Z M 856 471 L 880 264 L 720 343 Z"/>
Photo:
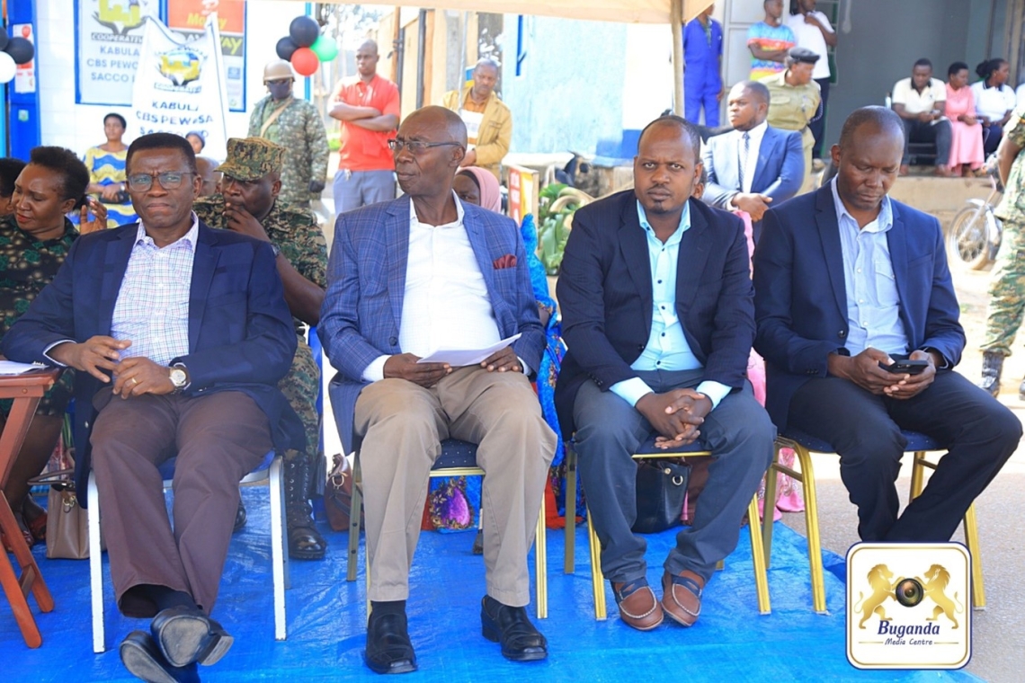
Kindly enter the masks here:
<path id="1" fill-rule="evenodd" d="M 754 251 L 754 347 L 776 426 L 839 454 L 861 539 L 945 542 L 1018 446 L 1022 426 L 953 372 L 965 331 L 940 223 L 887 197 L 903 150 L 895 113 L 857 110 L 832 147 L 836 177 L 766 213 Z M 925 371 L 880 367 L 908 357 Z M 898 517 L 901 429 L 949 451 Z"/>

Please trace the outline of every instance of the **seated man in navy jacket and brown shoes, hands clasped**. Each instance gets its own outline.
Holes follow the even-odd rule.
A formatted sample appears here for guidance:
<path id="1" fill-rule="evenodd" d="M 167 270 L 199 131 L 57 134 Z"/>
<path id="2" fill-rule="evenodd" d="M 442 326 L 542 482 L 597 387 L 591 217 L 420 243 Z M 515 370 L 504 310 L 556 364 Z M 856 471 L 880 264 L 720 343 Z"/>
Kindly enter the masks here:
<path id="1" fill-rule="evenodd" d="M 559 278 L 569 352 L 556 387 L 565 434 L 602 542 L 619 615 L 642 631 L 664 614 L 691 626 L 715 563 L 772 460 L 775 430 L 745 378 L 754 339 L 740 219 L 689 201 L 701 175 L 697 130 L 667 116 L 641 134 L 634 189 L 580 209 Z M 715 457 L 693 526 L 648 585 L 631 455 L 652 433 Z"/>

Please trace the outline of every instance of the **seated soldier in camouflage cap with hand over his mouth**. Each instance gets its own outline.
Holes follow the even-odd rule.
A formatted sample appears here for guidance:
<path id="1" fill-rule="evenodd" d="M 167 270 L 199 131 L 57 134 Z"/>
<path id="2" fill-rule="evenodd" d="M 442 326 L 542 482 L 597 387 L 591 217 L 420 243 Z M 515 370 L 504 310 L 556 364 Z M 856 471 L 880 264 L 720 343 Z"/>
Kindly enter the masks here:
<path id="1" fill-rule="evenodd" d="M 278 272 L 298 337 L 292 369 L 278 388 L 306 430 L 306 452 L 285 454 L 288 552 L 299 559 L 321 559 L 327 542 L 314 524 L 309 501 L 311 483 L 325 474 L 315 472 L 320 442 L 320 371 L 304 332 L 305 325 L 320 319 L 327 286 L 327 247 L 313 214 L 281 201 L 279 176 L 285 154 L 281 146 L 259 137 L 231 138 L 228 161 L 217 168 L 223 174 L 222 194 L 198 199 L 193 206 L 207 225 L 270 242 L 278 257 Z"/>

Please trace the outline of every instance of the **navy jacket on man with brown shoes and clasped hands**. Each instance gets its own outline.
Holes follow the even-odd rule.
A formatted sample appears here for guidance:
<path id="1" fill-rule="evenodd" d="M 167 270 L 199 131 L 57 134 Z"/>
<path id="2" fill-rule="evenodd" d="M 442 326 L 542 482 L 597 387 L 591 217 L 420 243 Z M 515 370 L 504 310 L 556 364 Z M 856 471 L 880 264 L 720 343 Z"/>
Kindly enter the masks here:
<path id="1" fill-rule="evenodd" d="M 680 243 L 676 314 L 704 379 L 740 388 L 754 339 L 747 240 L 739 218 L 690 200 Z M 603 391 L 637 377 L 630 365 L 652 325 L 651 260 L 632 189 L 579 209 L 557 286 L 569 351 L 556 385 L 564 434 L 572 434 L 580 386 Z"/>

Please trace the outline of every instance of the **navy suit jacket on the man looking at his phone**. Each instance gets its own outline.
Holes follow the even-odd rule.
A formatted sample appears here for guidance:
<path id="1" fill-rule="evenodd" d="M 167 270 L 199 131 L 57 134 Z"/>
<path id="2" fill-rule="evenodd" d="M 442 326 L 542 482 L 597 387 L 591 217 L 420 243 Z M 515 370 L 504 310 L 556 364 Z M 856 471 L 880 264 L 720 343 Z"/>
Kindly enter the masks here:
<path id="1" fill-rule="evenodd" d="M 934 348 L 953 367 L 965 348 L 965 331 L 940 223 L 890 202 L 894 224 L 887 244 L 909 350 Z M 847 342 L 844 256 L 828 184 L 770 209 L 762 222 L 754 250 L 754 348 L 766 359 L 766 408 L 782 431 L 794 391 L 813 377 L 825 377 L 828 355 Z"/>

